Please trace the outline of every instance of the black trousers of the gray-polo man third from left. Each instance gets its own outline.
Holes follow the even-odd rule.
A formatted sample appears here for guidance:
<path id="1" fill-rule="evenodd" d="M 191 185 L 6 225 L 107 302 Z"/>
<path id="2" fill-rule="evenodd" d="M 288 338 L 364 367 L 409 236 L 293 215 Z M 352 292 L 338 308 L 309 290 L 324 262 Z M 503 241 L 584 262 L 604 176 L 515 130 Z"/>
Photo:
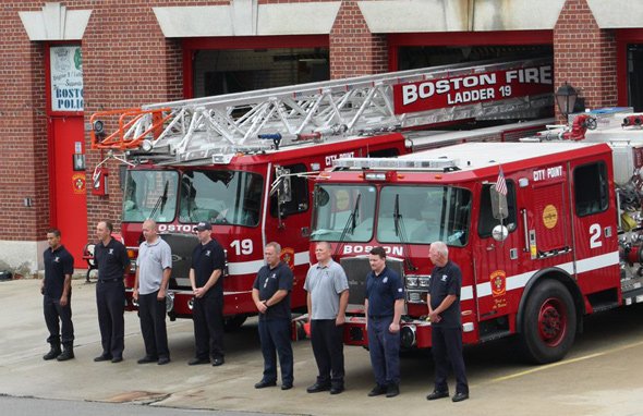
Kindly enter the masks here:
<path id="1" fill-rule="evenodd" d="M 166 299 L 156 298 L 158 291 L 138 295 L 141 332 L 145 355 L 151 358 L 169 358 L 168 331 L 166 329 Z"/>

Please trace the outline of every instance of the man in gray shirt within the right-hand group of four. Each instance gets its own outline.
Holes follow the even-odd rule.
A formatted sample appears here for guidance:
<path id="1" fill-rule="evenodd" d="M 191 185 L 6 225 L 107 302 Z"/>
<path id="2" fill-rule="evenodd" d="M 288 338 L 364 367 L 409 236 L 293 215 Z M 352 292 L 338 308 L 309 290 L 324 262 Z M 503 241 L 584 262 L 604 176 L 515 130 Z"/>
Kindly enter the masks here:
<path id="1" fill-rule="evenodd" d="M 332 261 L 329 243 L 317 243 L 315 256 L 318 262 L 308 270 L 304 290 L 308 292 L 311 343 L 319 374 L 306 391 L 339 394 L 344 389 L 343 323 L 349 281 L 341 266 Z"/>

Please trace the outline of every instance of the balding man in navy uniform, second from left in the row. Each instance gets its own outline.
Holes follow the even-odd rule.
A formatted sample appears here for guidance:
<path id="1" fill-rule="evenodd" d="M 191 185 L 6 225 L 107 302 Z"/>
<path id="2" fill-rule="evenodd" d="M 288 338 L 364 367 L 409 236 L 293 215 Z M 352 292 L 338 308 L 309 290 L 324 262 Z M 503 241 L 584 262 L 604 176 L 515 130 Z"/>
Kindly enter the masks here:
<path id="1" fill-rule="evenodd" d="M 113 225 L 109 221 L 96 224 L 98 243 L 94 258 L 98 268 L 96 283 L 96 308 L 102 354 L 95 362 L 120 363 L 125 348 L 125 284 L 124 278 L 130 265 L 125 246 L 112 238 Z"/>

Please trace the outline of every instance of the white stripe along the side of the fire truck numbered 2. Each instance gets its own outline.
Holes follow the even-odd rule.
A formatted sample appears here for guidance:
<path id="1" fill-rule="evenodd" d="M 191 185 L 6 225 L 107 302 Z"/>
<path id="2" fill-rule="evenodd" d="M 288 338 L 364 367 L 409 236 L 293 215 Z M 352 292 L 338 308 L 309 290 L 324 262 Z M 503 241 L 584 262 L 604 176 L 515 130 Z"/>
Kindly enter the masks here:
<path id="1" fill-rule="evenodd" d="M 604 267 L 615 266 L 619 262 L 619 254 L 618 252 L 603 254 L 600 256 L 585 258 L 583 260 L 577 261 L 577 273 L 583 273 L 586 271 L 602 269 Z M 556 265 L 554 267 L 558 267 L 559 269 L 565 270 L 566 272 L 573 274 L 573 261 L 563 262 L 560 265 Z M 525 273 L 515 274 L 507 277 L 507 290 L 511 291 L 514 289 L 521 289 L 526 285 L 530 279 L 537 273 L 539 270 L 527 271 Z M 492 295 L 492 283 L 485 282 L 480 283 L 475 286 L 477 291 L 477 297 L 485 297 Z M 465 297 L 466 296 L 466 297 Z M 462 287 L 460 293 L 460 299 L 466 301 L 473 298 L 473 286 L 465 286 Z"/>

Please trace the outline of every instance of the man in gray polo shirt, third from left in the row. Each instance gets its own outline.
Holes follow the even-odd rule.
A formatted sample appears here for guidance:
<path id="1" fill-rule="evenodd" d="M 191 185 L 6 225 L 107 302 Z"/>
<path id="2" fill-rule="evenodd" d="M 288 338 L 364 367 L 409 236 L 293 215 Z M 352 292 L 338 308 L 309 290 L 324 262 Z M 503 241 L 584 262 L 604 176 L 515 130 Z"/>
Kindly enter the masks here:
<path id="1" fill-rule="evenodd" d="M 145 343 L 145 356 L 138 364 L 170 362 L 168 332 L 166 329 L 166 293 L 172 273 L 172 252 L 156 232 L 156 222 L 143 223 L 145 241 L 138 247 L 134 299 L 138 301 L 141 332 Z"/>

